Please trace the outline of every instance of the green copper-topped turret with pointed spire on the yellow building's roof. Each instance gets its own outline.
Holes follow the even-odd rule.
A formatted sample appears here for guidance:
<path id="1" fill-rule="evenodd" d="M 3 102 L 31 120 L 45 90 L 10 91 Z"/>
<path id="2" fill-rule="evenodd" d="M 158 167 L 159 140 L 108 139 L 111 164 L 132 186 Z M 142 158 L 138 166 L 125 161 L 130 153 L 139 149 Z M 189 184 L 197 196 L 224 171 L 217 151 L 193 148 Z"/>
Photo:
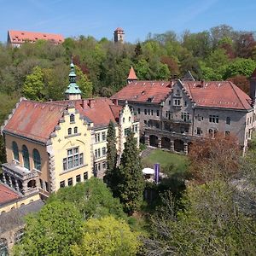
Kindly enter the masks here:
<path id="1" fill-rule="evenodd" d="M 79 85 L 76 84 L 76 73 L 73 65 L 73 61 L 70 64 L 70 73 L 69 73 L 69 84 L 67 86 L 67 90 L 65 91 L 67 100 L 80 100 L 81 99 L 81 90 L 79 89 Z"/>

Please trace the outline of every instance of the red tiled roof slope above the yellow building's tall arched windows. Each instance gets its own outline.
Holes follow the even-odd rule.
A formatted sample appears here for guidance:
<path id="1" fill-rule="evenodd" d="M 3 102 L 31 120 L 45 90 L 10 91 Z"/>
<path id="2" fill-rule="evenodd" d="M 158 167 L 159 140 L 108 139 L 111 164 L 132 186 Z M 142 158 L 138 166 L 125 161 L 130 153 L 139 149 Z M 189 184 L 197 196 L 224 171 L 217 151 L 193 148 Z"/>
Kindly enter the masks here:
<path id="1" fill-rule="evenodd" d="M 16 135 L 46 143 L 62 117 L 65 105 L 22 100 L 3 128 Z"/>

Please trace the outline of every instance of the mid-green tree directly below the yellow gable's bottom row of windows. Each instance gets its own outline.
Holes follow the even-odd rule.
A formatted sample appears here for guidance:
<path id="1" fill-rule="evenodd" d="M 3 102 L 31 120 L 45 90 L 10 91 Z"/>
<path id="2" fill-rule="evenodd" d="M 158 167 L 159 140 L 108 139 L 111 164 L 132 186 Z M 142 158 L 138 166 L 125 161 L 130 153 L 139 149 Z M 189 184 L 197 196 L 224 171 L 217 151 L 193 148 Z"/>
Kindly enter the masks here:
<path id="1" fill-rule="evenodd" d="M 74 187 L 59 189 L 48 201 L 73 202 L 85 219 L 109 215 L 126 218 L 119 199 L 113 198 L 106 184 L 96 177 L 91 177 L 87 182 L 78 183 Z"/>

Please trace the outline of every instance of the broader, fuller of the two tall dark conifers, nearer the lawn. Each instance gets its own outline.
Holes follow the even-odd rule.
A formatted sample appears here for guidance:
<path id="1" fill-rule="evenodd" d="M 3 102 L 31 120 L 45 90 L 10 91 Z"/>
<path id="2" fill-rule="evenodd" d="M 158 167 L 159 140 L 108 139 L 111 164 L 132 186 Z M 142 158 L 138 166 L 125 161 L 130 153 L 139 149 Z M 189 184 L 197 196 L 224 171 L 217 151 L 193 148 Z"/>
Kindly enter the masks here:
<path id="1" fill-rule="evenodd" d="M 137 148 L 137 140 L 130 131 L 126 137 L 125 149 L 117 168 L 118 184 L 116 195 L 119 196 L 125 212 L 131 215 L 143 201 L 144 180 L 142 163 Z"/>

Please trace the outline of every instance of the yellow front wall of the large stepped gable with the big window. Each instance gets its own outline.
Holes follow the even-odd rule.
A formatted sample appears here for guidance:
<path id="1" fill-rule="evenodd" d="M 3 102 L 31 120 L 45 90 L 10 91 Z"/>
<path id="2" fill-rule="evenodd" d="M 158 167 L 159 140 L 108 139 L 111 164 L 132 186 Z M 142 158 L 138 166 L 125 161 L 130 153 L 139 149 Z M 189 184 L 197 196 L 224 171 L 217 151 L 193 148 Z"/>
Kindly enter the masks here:
<path id="1" fill-rule="evenodd" d="M 80 119 L 79 113 L 75 108 L 68 108 L 64 115 L 63 122 L 60 123 L 60 129 L 55 131 L 55 137 L 51 138 L 52 145 L 48 146 L 49 154 L 54 155 L 54 186 L 53 191 L 60 189 L 60 183 L 65 182 L 67 186 L 68 179 L 73 179 L 73 185 L 76 184 L 76 177 L 80 175 L 81 181 L 84 181 L 84 172 L 88 173 L 88 178 L 92 177 L 91 163 L 91 131 L 89 126 Z M 74 122 L 70 121 L 70 116 L 74 115 Z M 75 128 L 76 127 L 76 128 Z M 71 129 L 71 134 L 68 134 Z M 77 129 L 75 133 L 74 130 Z M 64 170 L 63 159 L 68 158 L 68 150 L 78 148 L 79 155 L 84 154 L 84 164 L 76 166 L 69 170 Z M 71 157 L 71 155 L 69 155 Z M 50 172 L 50 171 L 49 171 Z"/>

